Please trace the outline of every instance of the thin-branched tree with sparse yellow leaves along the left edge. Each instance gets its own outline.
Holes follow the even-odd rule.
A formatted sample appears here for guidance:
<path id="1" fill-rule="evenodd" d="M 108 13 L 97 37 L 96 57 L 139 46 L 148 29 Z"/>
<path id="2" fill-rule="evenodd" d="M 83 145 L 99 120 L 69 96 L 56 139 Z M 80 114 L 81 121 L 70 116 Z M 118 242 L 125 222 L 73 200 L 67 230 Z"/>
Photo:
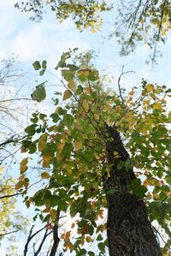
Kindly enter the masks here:
<path id="1" fill-rule="evenodd" d="M 17 161 L 20 161 L 16 154 L 21 148 L 20 141 L 24 137 L 22 123 L 27 116 L 28 102 L 31 101 L 22 94 L 23 84 L 27 84 L 27 76 L 28 74 L 20 68 L 15 57 L 1 61 L 0 241 L 8 247 L 6 255 L 17 256 L 19 255 L 16 247 L 17 235 L 20 232 L 26 232 L 28 224 L 27 217 L 18 210 L 17 202 L 21 193 L 15 190 L 17 175 L 14 171 Z"/>

